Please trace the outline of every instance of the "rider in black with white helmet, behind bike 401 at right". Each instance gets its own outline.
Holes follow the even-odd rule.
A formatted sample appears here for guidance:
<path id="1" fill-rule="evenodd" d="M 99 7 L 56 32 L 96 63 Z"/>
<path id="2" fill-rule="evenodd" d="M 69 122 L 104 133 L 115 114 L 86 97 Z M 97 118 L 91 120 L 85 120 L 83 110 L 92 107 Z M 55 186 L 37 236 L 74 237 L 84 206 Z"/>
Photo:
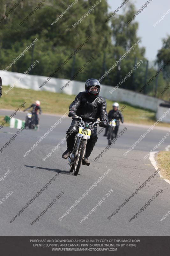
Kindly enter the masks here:
<path id="1" fill-rule="evenodd" d="M 118 110 L 119 104 L 117 102 L 114 102 L 112 106 L 113 106 L 113 110 L 109 111 L 108 119 L 109 119 L 109 121 L 111 121 L 112 119 L 116 120 L 115 121 L 116 126 L 115 126 L 115 130 L 114 130 L 114 138 L 116 138 L 116 135 L 117 135 L 117 132 L 119 129 L 119 119 L 121 119 L 121 122 L 123 124 L 123 116 L 122 116 L 122 113 Z M 105 134 L 103 136 L 107 136 L 108 127 L 109 126 L 106 127 Z"/>

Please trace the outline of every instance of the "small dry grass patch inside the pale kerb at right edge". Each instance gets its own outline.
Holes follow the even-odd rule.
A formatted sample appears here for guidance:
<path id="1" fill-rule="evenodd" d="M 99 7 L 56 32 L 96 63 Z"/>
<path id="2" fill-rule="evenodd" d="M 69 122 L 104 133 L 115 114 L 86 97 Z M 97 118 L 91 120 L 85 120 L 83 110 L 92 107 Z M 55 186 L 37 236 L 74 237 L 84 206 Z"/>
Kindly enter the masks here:
<path id="1" fill-rule="evenodd" d="M 160 151 L 156 157 L 164 179 L 170 180 L 170 151 Z"/>

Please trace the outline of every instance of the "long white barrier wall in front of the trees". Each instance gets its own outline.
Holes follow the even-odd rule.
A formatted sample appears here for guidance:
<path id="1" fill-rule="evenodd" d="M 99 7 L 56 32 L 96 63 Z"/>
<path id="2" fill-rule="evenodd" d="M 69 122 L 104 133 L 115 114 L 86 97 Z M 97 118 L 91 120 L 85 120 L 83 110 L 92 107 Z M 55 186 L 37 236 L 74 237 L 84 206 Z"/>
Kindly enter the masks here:
<path id="1" fill-rule="evenodd" d="M 85 90 L 84 82 L 70 81 L 67 79 L 51 78 L 49 82 L 44 84 L 42 88 L 39 88 L 39 86 L 43 84 L 45 80 L 47 80 L 47 76 L 34 76 L 2 70 L 0 70 L 0 76 L 2 78 L 2 84 L 8 86 L 6 87 L 6 90 L 9 89 L 9 87 L 13 84 L 15 84 L 17 88 L 33 89 L 35 91 L 59 92 L 69 95 L 78 94 L 78 92 Z M 61 88 L 68 81 L 70 81 L 70 84 L 61 90 Z M 102 85 L 100 95 L 108 100 L 125 101 L 133 106 L 148 108 L 153 111 L 157 110 L 158 104 L 164 102 L 163 100 L 159 100 L 157 98 L 121 88 L 118 88 L 111 94 L 110 91 L 113 88 L 114 87 L 112 86 Z M 8 93 L 10 93 L 10 91 Z"/>

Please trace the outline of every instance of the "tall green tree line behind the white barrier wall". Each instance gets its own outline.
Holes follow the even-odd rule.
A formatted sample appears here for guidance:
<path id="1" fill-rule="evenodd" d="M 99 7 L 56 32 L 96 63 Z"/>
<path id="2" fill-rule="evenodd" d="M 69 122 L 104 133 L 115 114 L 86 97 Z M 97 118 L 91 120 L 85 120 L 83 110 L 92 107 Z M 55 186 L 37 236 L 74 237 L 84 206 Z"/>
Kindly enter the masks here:
<path id="1" fill-rule="evenodd" d="M 137 11 L 135 5 L 128 1 L 121 8 L 123 14 L 112 15 L 107 0 L 1 0 L 0 69 L 8 67 L 38 38 L 8 71 L 24 73 L 38 60 L 29 74 L 49 76 L 69 60 L 54 77 L 69 79 L 84 67 L 76 80 L 103 77 L 101 84 L 116 86 L 132 70 L 133 74 L 119 87 L 139 92 L 170 60 L 170 36 L 163 39 L 162 48 L 151 63 L 137 36 L 138 22 L 127 24 Z M 87 38 L 90 39 L 86 41 Z M 139 40 L 140 44 L 126 54 Z M 115 63 L 118 65 L 112 68 Z M 161 93 L 169 83 L 169 71 L 167 66 L 141 93 L 169 100 L 169 93 Z"/>

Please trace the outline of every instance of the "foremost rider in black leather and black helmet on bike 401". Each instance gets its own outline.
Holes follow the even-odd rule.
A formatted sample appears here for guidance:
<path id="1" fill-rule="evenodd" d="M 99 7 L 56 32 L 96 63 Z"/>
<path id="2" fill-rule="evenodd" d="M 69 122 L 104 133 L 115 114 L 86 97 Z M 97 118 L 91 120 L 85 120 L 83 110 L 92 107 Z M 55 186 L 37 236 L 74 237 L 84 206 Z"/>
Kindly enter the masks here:
<path id="1" fill-rule="evenodd" d="M 75 100 L 69 106 L 68 116 L 80 116 L 85 123 L 94 123 L 97 118 L 100 118 L 101 127 L 107 127 L 108 116 L 106 111 L 106 100 L 99 95 L 100 83 L 97 79 L 88 79 L 85 82 L 85 92 L 79 92 Z M 63 153 L 62 157 L 67 159 L 74 147 L 74 141 L 76 134 L 78 133 L 79 126 L 76 122 L 80 119 L 73 118 L 69 129 L 67 130 L 67 150 Z M 70 132 L 72 131 L 72 132 Z M 87 140 L 85 158 L 82 162 L 84 165 L 90 165 L 88 157 L 90 156 L 94 145 L 96 144 L 97 137 L 97 127 L 91 131 L 90 139 Z"/>

